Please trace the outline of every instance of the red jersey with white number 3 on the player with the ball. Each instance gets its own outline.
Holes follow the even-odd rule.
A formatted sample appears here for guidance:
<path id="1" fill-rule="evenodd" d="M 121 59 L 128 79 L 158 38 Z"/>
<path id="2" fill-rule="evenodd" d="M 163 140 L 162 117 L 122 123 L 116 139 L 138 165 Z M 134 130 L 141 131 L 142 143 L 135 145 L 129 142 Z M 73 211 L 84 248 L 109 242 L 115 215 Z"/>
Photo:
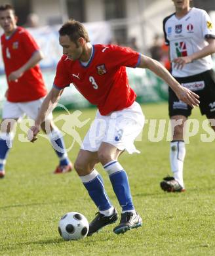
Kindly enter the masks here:
<path id="1" fill-rule="evenodd" d="M 73 83 L 87 100 L 98 107 L 100 114 L 128 108 L 136 94 L 128 84 L 125 67 L 136 68 L 140 53 L 117 45 L 93 45 L 87 66 L 63 55 L 58 62 L 54 87 L 63 89 Z"/>

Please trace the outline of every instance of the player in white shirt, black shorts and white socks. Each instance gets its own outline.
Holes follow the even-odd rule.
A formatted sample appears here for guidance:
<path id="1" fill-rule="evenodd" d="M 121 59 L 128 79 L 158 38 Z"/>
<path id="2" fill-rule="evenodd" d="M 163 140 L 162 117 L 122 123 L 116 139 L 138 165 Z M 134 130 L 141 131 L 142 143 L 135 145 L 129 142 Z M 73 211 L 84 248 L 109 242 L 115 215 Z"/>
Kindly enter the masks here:
<path id="1" fill-rule="evenodd" d="M 172 1 L 176 12 L 163 20 L 165 41 L 166 45 L 169 45 L 172 62 L 172 75 L 184 87 L 200 96 L 201 114 L 206 115 L 215 130 L 212 126 L 215 121 L 215 74 L 211 57 L 215 52 L 213 25 L 204 10 L 190 7 L 190 0 Z M 164 178 L 161 188 L 168 192 L 182 192 L 185 190 L 183 165 L 186 155 L 183 127 L 187 117 L 191 115 L 191 108 L 179 100 L 171 89 L 168 104 L 173 133 L 170 165 L 174 177 Z"/>

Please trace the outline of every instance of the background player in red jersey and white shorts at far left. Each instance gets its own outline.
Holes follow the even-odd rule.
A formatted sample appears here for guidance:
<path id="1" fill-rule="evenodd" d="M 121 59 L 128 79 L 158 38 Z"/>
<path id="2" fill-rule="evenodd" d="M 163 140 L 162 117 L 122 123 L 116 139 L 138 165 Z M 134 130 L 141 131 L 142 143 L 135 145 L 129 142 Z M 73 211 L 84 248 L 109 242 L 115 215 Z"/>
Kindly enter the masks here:
<path id="1" fill-rule="evenodd" d="M 16 26 L 17 17 L 10 5 L 0 7 L 0 25 L 4 30 L 1 36 L 1 49 L 5 64 L 8 90 L 3 105 L 3 121 L 0 133 L 0 178 L 5 177 L 5 163 L 12 145 L 12 130 L 16 121 L 27 114 L 35 119 L 47 95 L 47 89 L 38 62 L 43 58 L 37 43 L 24 28 Z M 71 163 L 58 128 L 50 121 L 49 137 L 60 164 L 54 173 L 71 171 Z M 45 131 L 45 122 L 41 125 Z M 59 148 L 60 147 L 60 148 Z"/>

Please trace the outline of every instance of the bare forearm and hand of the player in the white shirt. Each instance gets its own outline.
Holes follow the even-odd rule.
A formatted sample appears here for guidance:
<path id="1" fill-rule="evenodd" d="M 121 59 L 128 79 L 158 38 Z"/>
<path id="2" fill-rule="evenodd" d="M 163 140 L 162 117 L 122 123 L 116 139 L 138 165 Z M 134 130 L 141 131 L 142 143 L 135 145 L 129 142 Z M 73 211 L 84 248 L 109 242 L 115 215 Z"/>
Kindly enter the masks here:
<path id="1" fill-rule="evenodd" d="M 201 49 L 201 51 L 197 51 L 189 56 L 174 58 L 172 61 L 174 62 L 174 68 L 182 70 L 187 63 L 190 63 L 193 60 L 199 60 L 199 58 L 204 58 L 205 56 L 215 53 L 215 39 L 209 38 L 206 39 L 206 41 L 208 42 L 208 45 Z"/>

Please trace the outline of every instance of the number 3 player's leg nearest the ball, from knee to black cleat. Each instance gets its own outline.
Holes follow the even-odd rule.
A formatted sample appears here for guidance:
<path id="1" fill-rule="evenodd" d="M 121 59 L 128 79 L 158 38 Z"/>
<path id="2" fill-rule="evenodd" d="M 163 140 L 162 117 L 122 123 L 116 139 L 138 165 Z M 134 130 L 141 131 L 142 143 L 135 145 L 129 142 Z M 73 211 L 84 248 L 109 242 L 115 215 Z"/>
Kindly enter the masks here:
<path id="1" fill-rule="evenodd" d="M 98 232 L 108 224 L 115 223 L 118 219 L 117 211 L 111 205 L 104 188 L 102 176 L 95 169 L 96 163 L 98 163 L 97 152 L 81 149 L 74 164 L 77 174 L 99 211 L 89 225 L 88 236 Z"/>

